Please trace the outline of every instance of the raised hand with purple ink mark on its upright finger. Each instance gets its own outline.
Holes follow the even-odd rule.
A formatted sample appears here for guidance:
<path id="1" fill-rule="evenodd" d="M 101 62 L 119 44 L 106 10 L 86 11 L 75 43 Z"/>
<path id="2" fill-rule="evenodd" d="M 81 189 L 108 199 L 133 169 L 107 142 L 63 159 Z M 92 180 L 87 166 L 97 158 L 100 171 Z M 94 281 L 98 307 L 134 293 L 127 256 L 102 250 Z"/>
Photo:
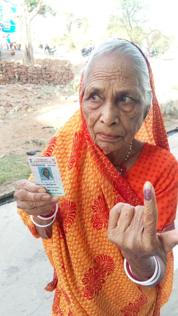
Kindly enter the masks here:
<path id="1" fill-rule="evenodd" d="M 157 234 L 158 208 L 154 188 L 144 185 L 144 206 L 116 204 L 109 215 L 107 236 L 132 266 L 145 264 L 153 256 L 165 255 L 178 244 L 178 229 Z"/>

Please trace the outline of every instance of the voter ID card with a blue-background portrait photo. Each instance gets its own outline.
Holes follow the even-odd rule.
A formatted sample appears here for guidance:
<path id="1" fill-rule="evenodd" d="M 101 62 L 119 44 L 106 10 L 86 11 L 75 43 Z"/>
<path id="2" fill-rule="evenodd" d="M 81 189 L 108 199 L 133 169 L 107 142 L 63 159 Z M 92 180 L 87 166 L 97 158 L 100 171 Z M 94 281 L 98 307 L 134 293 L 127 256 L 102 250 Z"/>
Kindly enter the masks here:
<path id="1" fill-rule="evenodd" d="M 28 157 L 35 184 L 43 185 L 50 195 L 65 195 L 56 157 Z"/>

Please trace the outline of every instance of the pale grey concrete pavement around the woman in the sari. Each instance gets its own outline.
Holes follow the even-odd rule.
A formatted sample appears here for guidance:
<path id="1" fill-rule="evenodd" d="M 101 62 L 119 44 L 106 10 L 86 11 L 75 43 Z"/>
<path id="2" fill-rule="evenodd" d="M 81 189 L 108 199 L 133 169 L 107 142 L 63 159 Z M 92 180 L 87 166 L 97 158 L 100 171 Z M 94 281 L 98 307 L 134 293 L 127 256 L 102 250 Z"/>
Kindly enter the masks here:
<path id="1" fill-rule="evenodd" d="M 178 159 L 178 133 L 169 137 L 169 144 Z M 32 237 L 23 225 L 15 202 L 0 207 L 0 223 L 0 315 L 50 316 L 54 293 L 43 289 L 52 281 L 53 269 L 41 240 Z M 178 228 L 178 219 L 175 224 Z M 161 316 L 178 315 L 178 246 L 174 255 L 173 290 Z"/>

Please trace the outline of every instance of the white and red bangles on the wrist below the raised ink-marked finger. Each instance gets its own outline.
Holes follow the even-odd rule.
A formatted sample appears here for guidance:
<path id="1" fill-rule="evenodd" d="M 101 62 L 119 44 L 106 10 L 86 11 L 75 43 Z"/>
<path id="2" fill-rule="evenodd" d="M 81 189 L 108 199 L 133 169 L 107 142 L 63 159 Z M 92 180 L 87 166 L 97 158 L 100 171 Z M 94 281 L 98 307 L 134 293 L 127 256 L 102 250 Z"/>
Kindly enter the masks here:
<path id="1" fill-rule="evenodd" d="M 152 285 L 152 284 L 156 283 L 156 281 L 158 281 L 160 273 L 161 273 L 161 267 L 160 267 L 159 261 L 157 260 L 157 258 L 155 256 L 153 256 L 153 260 L 155 262 L 155 271 L 154 271 L 153 276 L 149 280 L 146 280 L 146 281 L 138 280 L 132 274 L 130 265 L 128 264 L 126 259 L 124 259 L 124 270 L 125 270 L 125 273 L 129 277 L 129 279 L 131 281 L 133 281 L 134 283 L 141 284 L 141 285 L 147 285 L 147 286 L 148 285 Z"/>

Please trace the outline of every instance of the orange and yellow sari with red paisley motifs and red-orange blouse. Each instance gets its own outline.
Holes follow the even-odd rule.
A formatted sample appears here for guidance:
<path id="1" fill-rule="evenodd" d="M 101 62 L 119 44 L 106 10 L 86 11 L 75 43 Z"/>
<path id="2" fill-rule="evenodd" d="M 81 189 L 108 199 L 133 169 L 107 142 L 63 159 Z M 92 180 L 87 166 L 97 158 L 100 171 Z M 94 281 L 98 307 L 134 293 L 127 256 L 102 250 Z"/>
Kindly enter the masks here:
<path id="1" fill-rule="evenodd" d="M 152 75 L 151 82 L 153 87 Z M 48 291 L 55 289 L 52 316 L 159 316 L 160 307 L 169 299 L 172 252 L 163 281 L 148 288 L 126 276 L 121 251 L 106 234 L 109 211 L 116 203 L 143 205 L 142 190 L 147 180 L 156 192 L 159 232 L 174 229 L 178 167 L 168 151 L 155 95 L 137 137 L 146 144 L 124 177 L 91 140 L 81 109 L 44 149 L 44 156 L 57 158 L 66 194 L 60 197 L 52 237 L 43 240 L 54 267 L 54 279 L 46 287 Z M 18 212 L 39 238 L 30 217 L 22 210 Z"/>

